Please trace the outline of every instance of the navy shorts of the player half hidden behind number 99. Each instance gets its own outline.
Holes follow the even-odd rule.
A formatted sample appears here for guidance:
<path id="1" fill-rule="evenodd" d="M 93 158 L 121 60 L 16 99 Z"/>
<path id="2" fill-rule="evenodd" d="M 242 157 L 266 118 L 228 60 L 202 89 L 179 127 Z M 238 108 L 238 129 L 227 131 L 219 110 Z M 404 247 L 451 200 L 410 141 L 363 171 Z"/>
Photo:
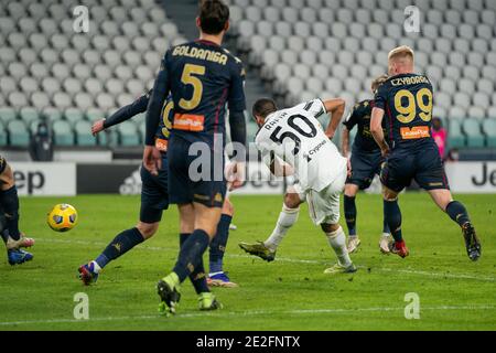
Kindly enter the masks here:
<path id="1" fill-rule="evenodd" d="M 384 158 L 380 150 L 376 152 L 353 150 L 351 162 L 352 175 L 346 180 L 346 184 L 355 184 L 365 190 L 370 186 L 374 176 L 380 174 Z"/>

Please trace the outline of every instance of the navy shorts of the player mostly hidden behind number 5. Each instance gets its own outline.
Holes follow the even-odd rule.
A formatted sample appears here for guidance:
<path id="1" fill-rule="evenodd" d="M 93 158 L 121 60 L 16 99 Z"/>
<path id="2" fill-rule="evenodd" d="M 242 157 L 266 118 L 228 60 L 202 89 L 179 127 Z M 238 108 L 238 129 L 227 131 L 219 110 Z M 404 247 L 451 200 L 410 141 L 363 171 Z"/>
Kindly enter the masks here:
<path id="1" fill-rule="evenodd" d="M 144 167 L 141 167 L 141 210 L 140 221 L 155 223 L 162 220 L 163 210 L 169 208 L 168 188 L 168 158 L 162 158 L 162 169 L 159 175 L 152 175 Z"/>

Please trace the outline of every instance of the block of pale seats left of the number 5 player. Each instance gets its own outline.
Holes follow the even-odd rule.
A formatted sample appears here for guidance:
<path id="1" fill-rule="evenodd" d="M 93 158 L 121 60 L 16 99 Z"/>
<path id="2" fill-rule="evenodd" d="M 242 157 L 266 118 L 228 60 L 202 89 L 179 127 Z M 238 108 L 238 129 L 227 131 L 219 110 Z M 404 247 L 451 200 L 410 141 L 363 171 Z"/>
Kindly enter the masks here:
<path id="1" fill-rule="evenodd" d="M 2 1 L 1 146 L 26 146 L 41 115 L 52 121 L 56 145 L 94 146 L 89 121 L 151 88 L 165 50 L 185 41 L 155 0 L 84 1 L 89 33 L 75 33 L 73 9 L 80 3 Z M 112 129 L 99 145 L 141 143 L 136 127 Z"/>

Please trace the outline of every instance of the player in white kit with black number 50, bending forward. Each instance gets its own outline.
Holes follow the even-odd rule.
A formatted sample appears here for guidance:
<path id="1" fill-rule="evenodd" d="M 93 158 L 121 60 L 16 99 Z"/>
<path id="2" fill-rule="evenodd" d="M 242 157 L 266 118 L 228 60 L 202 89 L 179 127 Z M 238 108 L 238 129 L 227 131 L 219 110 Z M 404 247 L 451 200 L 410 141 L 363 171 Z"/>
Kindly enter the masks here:
<path id="1" fill-rule="evenodd" d="M 325 274 L 354 272 L 346 249 L 346 236 L 339 221 L 339 195 L 347 176 L 347 160 L 331 141 L 344 114 L 343 99 L 310 100 L 289 109 L 278 110 L 272 99 L 255 103 L 252 114 L 260 130 L 255 142 L 265 163 L 274 175 L 293 174 L 299 182 L 284 195 L 284 203 L 276 228 L 259 244 L 240 243 L 251 255 L 273 260 L 277 247 L 296 222 L 300 204 L 309 203 L 310 216 L 320 225 L 337 256 L 337 264 Z M 331 113 L 324 132 L 316 119 Z"/>

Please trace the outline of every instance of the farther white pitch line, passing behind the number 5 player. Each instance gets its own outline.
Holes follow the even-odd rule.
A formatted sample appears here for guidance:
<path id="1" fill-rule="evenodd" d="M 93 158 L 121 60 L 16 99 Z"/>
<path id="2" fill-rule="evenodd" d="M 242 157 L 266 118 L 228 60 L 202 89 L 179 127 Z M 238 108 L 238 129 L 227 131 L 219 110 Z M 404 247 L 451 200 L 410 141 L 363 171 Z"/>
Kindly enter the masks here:
<path id="1" fill-rule="evenodd" d="M 108 243 L 104 242 L 87 242 L 87 240 L 74 240 L 74 239 L 54 239 L 54 238 L 40 238 L 36 242 L 45 242 L 45 243 L 63 243 L 63 244 L 79 244 L 79 245 L 95 245 L 95 246 L 107 246 Z M 139 245 L 137 249 L 150 250 L 150 252 L 177 252 L 175 247 L 159 247 L 159 246 L 148 246 L 148 245 Z M 252 258 L 256 257 L 250 255 L 239 255 L 239 254 L 226 254 L 226 257 L 231 258 Z M 292 264 L 313 264 L 313 265 L 325 265 L 330 264 L 328 260 L 312 260 L 312 259 L 299 259 L 299 258 L 290 258 L 290 257 L 277 257 L 276 261 L 281 263 L 292 263 Z M 367 266 L 357 266 L 358 268 L 366 269 Z M 424 277 L 436 277 L 436 278 L 452 278 L 452 279 L 474 279 L 482 281 L 496 281 L 496 277 L 487 277 L 487 276 L 475 276 L 475 275 L 464 275 L 464 274 L 449 274 L 449 272 L 435 272 L 435 271 L 423 271 L 416 269 L 398 269 L 398 268 L 387 268 L 387 267 L 373 267 L 373 271 L 384 271 L 384 272 L 398 272 L 398 274 L 408 274 L 416 276 L 424 276 Z"/>

